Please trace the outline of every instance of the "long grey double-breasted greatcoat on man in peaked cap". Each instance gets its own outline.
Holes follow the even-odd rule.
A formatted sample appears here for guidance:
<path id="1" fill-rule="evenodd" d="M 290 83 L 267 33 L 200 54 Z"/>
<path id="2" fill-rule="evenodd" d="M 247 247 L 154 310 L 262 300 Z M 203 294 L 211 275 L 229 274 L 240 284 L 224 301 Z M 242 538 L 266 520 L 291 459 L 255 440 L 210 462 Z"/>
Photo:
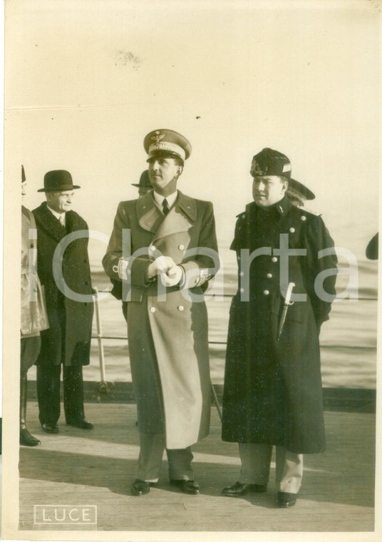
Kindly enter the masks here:
<path id="1" fill-rule="evenodd" d="M 124 255 L 123 230 L 129 252 Z M 206 255 L 206 250 L 211 252 Z M 182 265 L 184 287 L 160 289 L 159 280 L 146 280 L 150 262 L 160 255 Z M 212 203 L 178 191 L 164 216 L 153 193 L 121 202 L 103 258 L 110 278 L 120 280 L 121 259 L 128 262 L 128 341 L 138 426 L 144 433 L 165 433 L 167 449 L 182 449 L 206 436 L 210 427 L 208 322 L 202 293 L 219 267 Z"/>

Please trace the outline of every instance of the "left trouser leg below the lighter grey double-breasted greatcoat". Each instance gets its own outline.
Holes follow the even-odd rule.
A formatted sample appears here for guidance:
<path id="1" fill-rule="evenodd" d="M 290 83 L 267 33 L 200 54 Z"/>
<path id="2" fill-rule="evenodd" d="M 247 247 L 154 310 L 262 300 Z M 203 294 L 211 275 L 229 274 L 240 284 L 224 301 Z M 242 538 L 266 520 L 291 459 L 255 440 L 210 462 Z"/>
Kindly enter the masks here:
<path id="1" fill-rule="evenodd" d="M 165 451 L 164 433 L 140 433 L 140 451 L 135 478 L 146 482 L 158 482 L 160 465 Z"/>

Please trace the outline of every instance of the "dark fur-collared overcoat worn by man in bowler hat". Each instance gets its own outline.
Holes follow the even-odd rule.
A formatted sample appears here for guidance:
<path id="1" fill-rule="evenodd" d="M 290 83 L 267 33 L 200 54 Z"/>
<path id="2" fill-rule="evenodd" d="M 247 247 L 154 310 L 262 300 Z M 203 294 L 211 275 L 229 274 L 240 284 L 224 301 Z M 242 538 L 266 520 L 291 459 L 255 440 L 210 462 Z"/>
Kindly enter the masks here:
<path id="1" fill-rule="evenodd" d="M 38 232 L 38 277 L 45 290 L 50 327 L 41 332 L 36 364 L 88 365 L 91 347 L 93 302 L 88 257 L 88 225 L 75 211 L 66 213 L 66 227 L 48 210 L 46 202 L 33 210 Z M 87 296 L 73 300 L 58 289 L 53 276 L 53 255 L 66 235 L 83 231 L 58 258 L 61 285 Z M 62 246 L 62 245 L 61 245 Z"/>

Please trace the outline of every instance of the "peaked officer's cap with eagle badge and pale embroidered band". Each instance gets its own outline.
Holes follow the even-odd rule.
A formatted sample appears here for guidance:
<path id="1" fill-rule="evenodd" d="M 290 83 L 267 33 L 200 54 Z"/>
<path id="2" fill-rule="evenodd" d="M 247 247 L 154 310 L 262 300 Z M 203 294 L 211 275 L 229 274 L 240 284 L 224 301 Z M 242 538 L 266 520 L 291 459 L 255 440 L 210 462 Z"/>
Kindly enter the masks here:
<path id="1" fill-rule="evenodd" d="M 143 140 L 143 147 L 150 158 L 181 158 L 187 160 L 191 154 L 191 143 L 180 133 L 167 128 L 154 130 Z"/>

